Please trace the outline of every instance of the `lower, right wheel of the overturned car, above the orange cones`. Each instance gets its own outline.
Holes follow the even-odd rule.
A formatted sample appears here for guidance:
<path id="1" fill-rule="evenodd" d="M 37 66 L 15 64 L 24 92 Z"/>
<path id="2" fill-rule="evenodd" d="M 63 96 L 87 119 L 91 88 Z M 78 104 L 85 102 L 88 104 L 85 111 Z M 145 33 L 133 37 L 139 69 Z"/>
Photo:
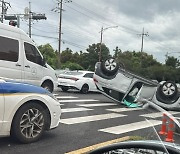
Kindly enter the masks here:
<path id="1" fill-rule="evenodd" d="M 158 88 L 162 97 L 172 98 L 177 95 L 178 89 L 176 83 L 172 81 L 166 81 Z"/>

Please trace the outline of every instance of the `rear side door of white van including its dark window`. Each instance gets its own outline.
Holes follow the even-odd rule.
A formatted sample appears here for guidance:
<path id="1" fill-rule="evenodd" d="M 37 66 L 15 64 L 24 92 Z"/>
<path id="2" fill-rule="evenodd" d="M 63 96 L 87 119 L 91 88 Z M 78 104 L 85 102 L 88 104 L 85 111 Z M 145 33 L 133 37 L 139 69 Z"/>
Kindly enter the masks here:
<path id="1" fill-rule="evenodd" d="M 19 40 L 0 36 L 0 72 L 1 77 L 22 80 L 22 57 Z"/>

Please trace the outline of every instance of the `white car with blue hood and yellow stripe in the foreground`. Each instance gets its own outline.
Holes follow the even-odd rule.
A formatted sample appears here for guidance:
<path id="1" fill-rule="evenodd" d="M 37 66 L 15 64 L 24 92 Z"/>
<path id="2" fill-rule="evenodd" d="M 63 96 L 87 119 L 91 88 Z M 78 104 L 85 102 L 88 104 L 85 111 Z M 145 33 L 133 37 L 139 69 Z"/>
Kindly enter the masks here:
<path id="1" fill-rule="evenodd" d="M 37 141 L 59 125 L 61 108 L 52 93 L 29 84 L 0 79 L 0 136 L 22 143 Z"/>

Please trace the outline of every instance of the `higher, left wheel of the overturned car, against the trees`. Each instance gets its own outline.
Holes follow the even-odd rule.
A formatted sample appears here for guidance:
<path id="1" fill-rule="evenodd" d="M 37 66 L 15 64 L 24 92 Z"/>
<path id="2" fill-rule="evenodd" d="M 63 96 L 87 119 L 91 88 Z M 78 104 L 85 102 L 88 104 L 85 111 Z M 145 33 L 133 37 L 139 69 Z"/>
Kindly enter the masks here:
<path id="1" fill-rule="evenodd" d="M 117 73 L 119 65 L 113 58 L 110 58 L 101 63 L 101 69 L 107 75 L 114 75 Z"/>

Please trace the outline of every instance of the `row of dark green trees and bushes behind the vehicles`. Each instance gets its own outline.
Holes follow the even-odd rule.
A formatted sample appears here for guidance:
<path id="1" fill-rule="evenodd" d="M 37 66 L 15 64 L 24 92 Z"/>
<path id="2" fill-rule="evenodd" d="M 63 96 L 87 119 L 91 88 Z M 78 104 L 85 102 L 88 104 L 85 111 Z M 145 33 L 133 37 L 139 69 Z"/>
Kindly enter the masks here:
<path id="1" fill-rule="evenodd" d="M 39 50 L 47 63 L 54 69 L 90 70 L 99 60 L 100 44 L 92 44 L 86 51 L 72 51 L 70 48 L 61 52 L 61 60 L 58 60 L 58 52 L 50 44 L 40 45 Z M 166 56 L 164 64 L 158 62 L 152 55 L 139 51 L 122 51 L 118 47 L 110 55 L 109 48 L 102 44 L 102 60 L 114 57 L 117 62 L 123 63 L 125 68 L 133 73 L 157 81 L 171 80 L 180 82 L 180 61 L 173 56 Z"/>

